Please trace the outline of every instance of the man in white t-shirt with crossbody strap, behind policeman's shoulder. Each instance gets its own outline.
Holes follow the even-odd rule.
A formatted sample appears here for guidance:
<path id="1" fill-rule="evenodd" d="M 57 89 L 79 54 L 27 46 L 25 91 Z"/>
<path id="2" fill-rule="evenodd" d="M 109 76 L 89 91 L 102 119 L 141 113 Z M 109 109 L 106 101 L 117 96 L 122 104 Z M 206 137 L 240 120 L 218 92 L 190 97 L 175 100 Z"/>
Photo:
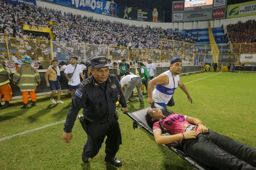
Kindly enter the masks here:
<path id="1" fill-rule="evenodd" d="M 69 64 L 64 70 L 65 77 L 69 81 L 68 85 L 69 85 L 71 97 L 73 97 L 73 95 L 75 94 L 75 91 L 78 88 L 78 84 L 80 83 L 79 75 L 81 75 L 82 80 L 84 80 L 82 67 L 79 64 L 76 64 L 76 62 L 77 62 L 77 58 L 71 57 L 71 64 Z M 69 78 L 68 74 L 73 72 L 74 72 L 73 76 Z"/>

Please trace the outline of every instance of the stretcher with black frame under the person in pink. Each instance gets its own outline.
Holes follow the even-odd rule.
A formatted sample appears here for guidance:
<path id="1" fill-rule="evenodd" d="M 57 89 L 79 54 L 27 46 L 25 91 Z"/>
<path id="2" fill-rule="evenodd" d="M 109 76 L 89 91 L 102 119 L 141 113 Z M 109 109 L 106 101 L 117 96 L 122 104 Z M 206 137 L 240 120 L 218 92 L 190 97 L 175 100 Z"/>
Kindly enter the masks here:
<path id="1" fill-rule="evenodd" d="M 142 127 L 144 130 L 146 130 L 147 132 L 149 132 L 149 134 L 151 134 L 153 136 L 153 130 L 152 130 L 152 128 L 150 128 L 148 126 L 148 124 L 146 123 L 146 118 L 145 118 L 145 114 L 150 108 L 161 109 L 162 113 L 165 116 L 170 115 L 170 114 L 173 113 L 173 112 L 169 111 L 168 109 L 165 109 L 165 108 L 159 106 L 158 104 L 154 104 L 151 107 L 144 108 L 142 110 L 135 111 L 135 112 L 132 112 L 132 113 L 126 112 L 126 114 L 133 120 L 133 129 L 138 128 L 138 125 L 139 125 L 140 127 Z M 170 134 L 163 134 L 163 135 L 170 135 Z M 171 149 L 171 151 L 176 153 L 178 156 L 180 156 L 186 162 L 188 162 L 189 164 L 194 166 L 196 169 L 210 170 L 206 166 L 197 163 L 195 160 L 193 160 L 188 155 L 186 155 L 186 153 L 184 153 L 182 151 L 182 149 L 180 148 L 180 144 L 178 142 L 172 142 L 172 143 L 169 143 L 169 144 L 165 144 L 164 146 Z"/>

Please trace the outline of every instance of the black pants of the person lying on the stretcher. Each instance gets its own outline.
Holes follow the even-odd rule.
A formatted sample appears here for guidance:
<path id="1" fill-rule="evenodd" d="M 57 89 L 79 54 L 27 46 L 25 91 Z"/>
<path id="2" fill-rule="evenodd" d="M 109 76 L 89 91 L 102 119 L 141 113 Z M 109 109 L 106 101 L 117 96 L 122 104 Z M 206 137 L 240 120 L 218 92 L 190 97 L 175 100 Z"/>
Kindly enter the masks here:
<path id="1" fill-rule="evenodd" d="M 255 170 L 256 148 L 209 131 L 182 141 L 182 149 L 203 165 L 223 170 Z"/>

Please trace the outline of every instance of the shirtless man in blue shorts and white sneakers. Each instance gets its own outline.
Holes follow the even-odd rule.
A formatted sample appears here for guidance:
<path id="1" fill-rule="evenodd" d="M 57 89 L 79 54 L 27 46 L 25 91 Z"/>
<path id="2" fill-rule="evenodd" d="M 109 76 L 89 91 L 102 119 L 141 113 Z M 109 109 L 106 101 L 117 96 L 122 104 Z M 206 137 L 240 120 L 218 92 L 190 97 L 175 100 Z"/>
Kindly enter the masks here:
<path id="1" fill-rule="evenodd" d="M 59 72 L 60 70 L 58 67 L 58 60 L 54 59 L 52 61 L 52 67 L 49 67 L 46 71 L 46 74 L 44 75 L 44 78 L 46 79 L 46 86 L 50 87 L 50 89 L 52 90 L 50 101 L 53 104 L 64 103 L 63 101 L 60 100 L 61 89 L 60 89 L 59 80 L 57 79 L 57 75 Z M 49 79 L 48 79 L 48 76 L 49 76 Z M 58 93 L 57 102 L 53 99 L 56 93 L 56 90 Z"/>

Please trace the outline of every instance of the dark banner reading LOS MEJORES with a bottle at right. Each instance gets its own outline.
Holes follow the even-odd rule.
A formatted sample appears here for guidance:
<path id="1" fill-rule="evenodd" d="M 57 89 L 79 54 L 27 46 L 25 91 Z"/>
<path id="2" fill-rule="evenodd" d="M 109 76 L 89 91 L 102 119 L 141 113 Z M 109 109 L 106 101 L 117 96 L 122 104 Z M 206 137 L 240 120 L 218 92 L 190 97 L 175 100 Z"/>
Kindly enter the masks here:
<path id="1" fill-rule="evenodd" d="M 147 10 L 118 5 L 118 18 L 145 22 L 164 22 L 164 11 L 159 11 L 157 8 Z"/>

